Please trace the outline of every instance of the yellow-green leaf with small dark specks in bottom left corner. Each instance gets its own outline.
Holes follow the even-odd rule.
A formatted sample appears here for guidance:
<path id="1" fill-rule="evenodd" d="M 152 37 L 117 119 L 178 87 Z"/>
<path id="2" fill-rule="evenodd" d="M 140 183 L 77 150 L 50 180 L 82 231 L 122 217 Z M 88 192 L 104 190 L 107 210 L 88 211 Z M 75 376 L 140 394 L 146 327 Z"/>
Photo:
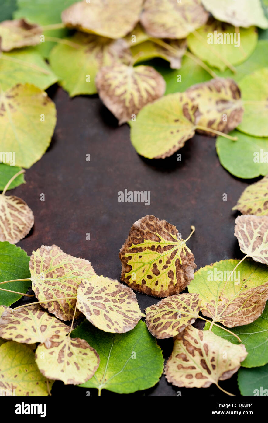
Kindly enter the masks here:
<path id="1" fill-rule="evenodd" d="M 1 389 L 11 390 L 16 396 L 45 396 L 49 395 L 52 383 L 41 375 L 35 354 L 28 346 L 13 341 L 1 345 Z"/>

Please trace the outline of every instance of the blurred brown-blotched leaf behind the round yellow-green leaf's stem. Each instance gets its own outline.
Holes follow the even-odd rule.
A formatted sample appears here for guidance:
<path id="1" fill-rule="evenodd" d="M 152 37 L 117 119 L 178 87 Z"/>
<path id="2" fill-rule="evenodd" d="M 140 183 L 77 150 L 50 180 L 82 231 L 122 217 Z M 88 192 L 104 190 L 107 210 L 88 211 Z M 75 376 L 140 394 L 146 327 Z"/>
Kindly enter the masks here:
<path id="1" fill-rule="evenodd" d="M 241 92 L 230 78 L 215 78 L 193 85 L 185 94 L 198 107 L 198 126 L 228 133 L 242 121 L 244 107 Z M 213 136 L 211 132 L 198 128 L 197 132 Z"/>

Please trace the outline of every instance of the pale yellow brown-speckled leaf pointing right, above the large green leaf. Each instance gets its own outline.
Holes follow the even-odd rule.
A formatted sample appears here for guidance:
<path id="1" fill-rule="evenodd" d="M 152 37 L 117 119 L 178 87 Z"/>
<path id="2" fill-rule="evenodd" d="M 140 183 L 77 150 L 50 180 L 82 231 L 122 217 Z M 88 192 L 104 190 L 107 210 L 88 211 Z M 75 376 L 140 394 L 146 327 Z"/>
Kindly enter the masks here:
<path id="1" fill-rule="evenodd" d="M 130 288 L 117 280 L 97 275 L 80 283 L 77 308 L 104 332 L 128 332 L 144 317 Z"/>

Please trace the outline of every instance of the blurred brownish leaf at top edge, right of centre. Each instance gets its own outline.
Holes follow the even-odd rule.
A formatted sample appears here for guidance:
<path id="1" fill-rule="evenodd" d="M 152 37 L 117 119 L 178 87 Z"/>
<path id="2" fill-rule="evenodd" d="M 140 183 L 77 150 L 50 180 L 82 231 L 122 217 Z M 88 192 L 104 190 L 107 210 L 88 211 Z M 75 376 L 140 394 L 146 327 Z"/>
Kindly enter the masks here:
<path id="1" fill-rule="evenodd" d="M 200 0 L 146 0 L 140 20 L 153 37 L 185 38 L 204 25 L 208 16 Z"/>

